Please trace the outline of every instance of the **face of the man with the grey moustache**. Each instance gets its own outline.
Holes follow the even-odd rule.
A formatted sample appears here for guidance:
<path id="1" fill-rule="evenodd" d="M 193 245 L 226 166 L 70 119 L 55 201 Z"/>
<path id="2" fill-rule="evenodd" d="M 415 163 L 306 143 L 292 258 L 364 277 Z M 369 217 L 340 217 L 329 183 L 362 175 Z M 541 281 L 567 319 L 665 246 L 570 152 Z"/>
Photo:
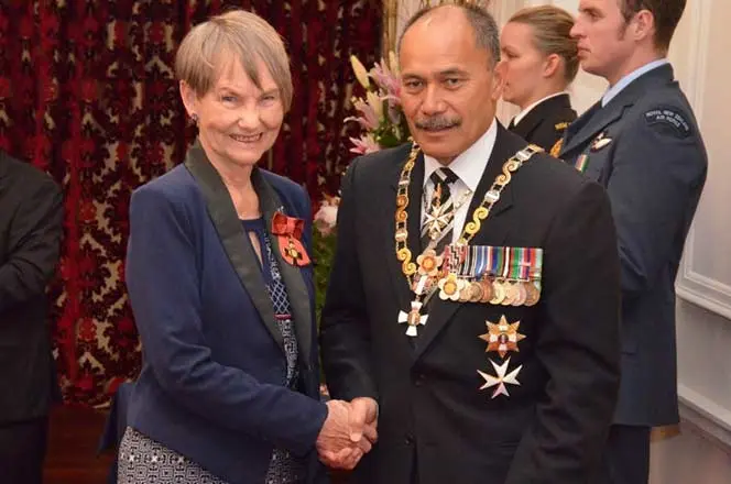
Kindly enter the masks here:
<path id="1" fill-rule="evenodd" d="M 450 163 L 490 128 L 501 82 L 461 11 L 444 8 L 404 35 L 399 61 L 404 113 L 425 154 Z"/>

